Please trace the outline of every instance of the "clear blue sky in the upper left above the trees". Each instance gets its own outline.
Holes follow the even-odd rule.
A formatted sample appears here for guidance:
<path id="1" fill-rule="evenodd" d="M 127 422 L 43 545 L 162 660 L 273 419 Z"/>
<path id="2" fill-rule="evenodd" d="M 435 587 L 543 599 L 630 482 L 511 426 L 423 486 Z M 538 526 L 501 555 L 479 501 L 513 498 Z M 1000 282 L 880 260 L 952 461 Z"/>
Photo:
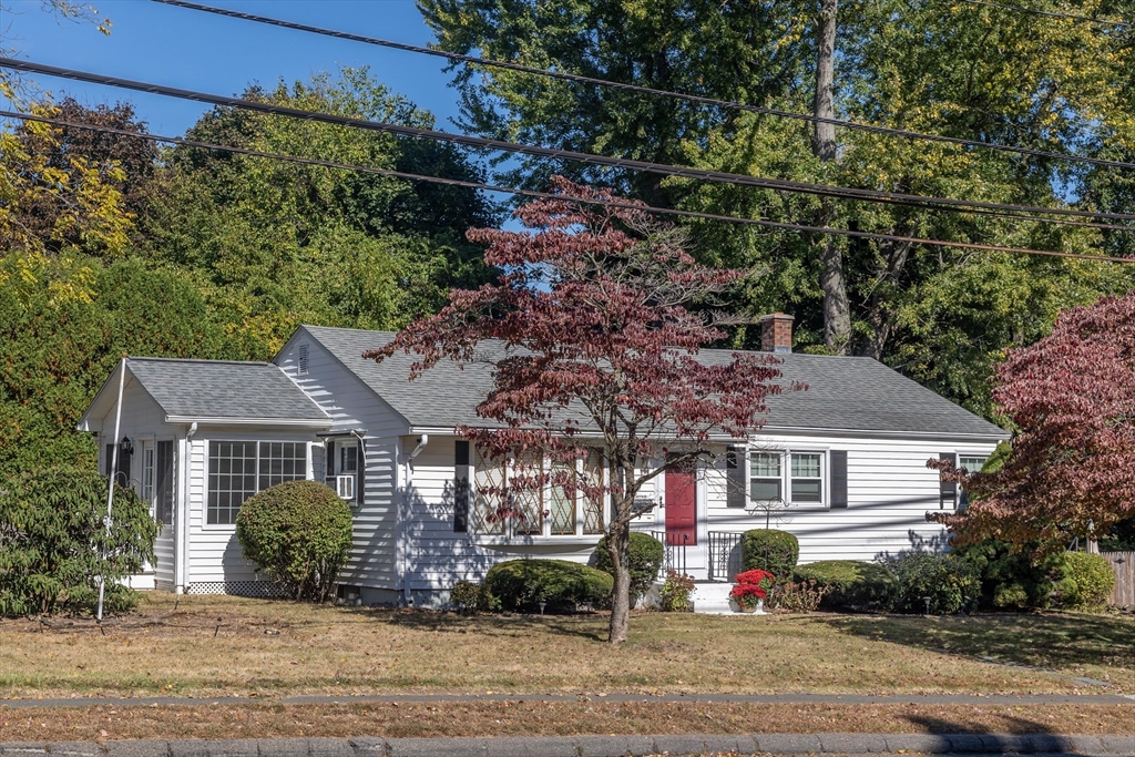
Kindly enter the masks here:
<path id="1" fill-rule="evenodd" d="M 440 59 L 398 52 L 263 24 L 162 6 L 149 0 L 86 0 L 112 23 L 110 36 L 91 25 L 59 22 L 40 0 L 3 0 L 3 47 L 35 62 L 166 84 L 215 94 L 238 94 L 259 82 L 271 85 L 309 78 L 344 66 L 370 66 L 372 74 L 456 131 L 456 92 Z M 413 0 L 203 0 L 274 16 L 412 44 L 432 41 Z M 37 77 L 57 98 L 70 94 L 93 106 L 133 102 L 152 133 L 179 135 L 207 107 L 157 95 Z"/>

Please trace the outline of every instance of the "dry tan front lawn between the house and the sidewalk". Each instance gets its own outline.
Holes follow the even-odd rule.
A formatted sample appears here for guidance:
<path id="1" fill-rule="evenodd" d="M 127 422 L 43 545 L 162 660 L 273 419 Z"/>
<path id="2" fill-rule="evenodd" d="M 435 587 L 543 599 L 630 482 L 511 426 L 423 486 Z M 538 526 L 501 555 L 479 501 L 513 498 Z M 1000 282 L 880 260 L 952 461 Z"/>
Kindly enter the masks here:
<path id="1" fill-rule="evenodd" d="M 0 697 L 1043 693 L 1082 690 L 1069 676 L 1084 674 L 1105 674 L 1112 692 L 1135 689 L 1135 624 L 1117 617 L 640 614 L 623 647 L 605 634 L 602 615 L 462 617 L 155 592 L 106 634 L 89 621 L 0 621 Z M 977 659 L 993 640 L 1003 658 L 1060 674 Z"/>

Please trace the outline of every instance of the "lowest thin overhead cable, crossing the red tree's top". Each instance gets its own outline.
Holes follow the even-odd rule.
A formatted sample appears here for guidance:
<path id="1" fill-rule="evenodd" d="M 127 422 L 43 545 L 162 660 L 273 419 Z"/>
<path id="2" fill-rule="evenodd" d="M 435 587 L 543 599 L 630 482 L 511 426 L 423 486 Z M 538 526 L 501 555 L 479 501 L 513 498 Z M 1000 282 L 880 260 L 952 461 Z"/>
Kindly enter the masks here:
<path id="1" fill-rule="evenodd" d="M 377 176 L 387 176 L 392 178 L 401 178 L 411 182 L 428 182 L 431 184 L 444 184 L 448 186 L 460 186 L 470 190 L 481 190 L 486 192 L 502 192 L 514 195 L 522 195 L 529 197 L 540 197 L 545 200 L 571 200 L 574 202 L 580 202 L 583 204 L 602 205 L 607 208 L 620 208 L 625 210 L 637 210 L 641 212 L 647 212 L 656 216 L 671 216 L 679 218 L 696 218 L 700 220 L 715 220 L 725 221 L 730 224 L 740 224 L 745 226 L 762 226 L 766 228 L 775 228 L 789 232 L 805 232 L 810 234 L 834 234 L 836 236 L 847 236 L 859 239 L 875 239 L 881 242 L 908 242 L 911 244 L 924 244 L 927 246 L 938 247 L 958 247 L 961 250 L 975 250 L 985 252 L 1004 252 L 1015 254 L 1027 254 L 1027 255 L 1043 255 L 1049 258 L 1071 258 L 1076 260 L 1092 260 L 1098 262 L 1115 262 L 1115 263 L 1133 263 L 1135 258 L 1118 258 L 1113 255 L 1091 255 L 1082 254 L 1075 252 L 1059 252 L 1053 250 L 1033 250 L 1031 247 L 1009 247 L 1002 245 L 990 245 L 990 244 L 978 244 L 974 242 L 947 242 L 943 239 L 925 239 L 920 237 L 902 236 L 897 234 L 878 234 L 874 232 L 855 232 L 851 229 L 838 229 L 829 227 L 818 226 L 806 226 L 802 224 L 789 224 L 784 221 L 773 221 L 764 218 L 739 218 L 737 216 L 721 216 L 717 213 L 704 213 L 692 210 L 676 210 L 673 208 L 655 208 L 653 205 L 646 205 L 632 201 L 623 200 L 603 200 L 596 197 L 575 197 L 565 196 L 562 194 L 554 194 L 552 192 L 538 192 L 536 190 L 522 190 L 518 187 L 499 186 L 495 184 L 486 184 L 482 182 L 469 182 L 465 179 L 453 179 L 444 178 L 439 176 L 426 176 L 422 174 L 412 174 L 407 171 L 397 171 L 386 168 L 372 168 L 370 166 L 359 166 L 353 163 L 339 163 L 330 160 L 320 160 L 317 158 L 300 158 L 296 155 L 285 155 L 280 153 L 262 152 L 260 150 L 251 150 L 249 148 L 235 148 L 230 145 L 213 144 L 209 142 L 199 142 L 195 140 L 185 140 L 183 137 L 176 136 L 161 136 L 158 134 L 146 134 L 132 132 L 129 129 L 115 128 L 110 126 L 95 126 L 93 124 L 81 124 L 76 121 L 66 121 L 58 118 L 48 118 L 45 116 L 36 116 L 33 113 L 20 113 L 11 110 L 0 110 L 0 117 L 2 118 L 14 118 L 20 120 L 39 121 L 42 124 L 51 124 L 53 126 L 61 126 L 66 128 L 81 128 L 89 129 L 92 132 L 101 132 L 104 134 L 117 134 L 119 136 L 125 136 L 135 140 L 146 140 L 149 142 L 161 142 L 167 144 L 176 144 L 186 148 L 194 148 L 199 150 L 216 150 L 219 152 L 229 152 L 242 155 L 250 155 L 253 158 L 264 158 L 270 160 L 281 160 L 286 162 L 300 163 L 304 166 L 321 166 L 325 168 L 336 168 L 340 170 L 348 170 L 362 174 L 373 174 Z"/>

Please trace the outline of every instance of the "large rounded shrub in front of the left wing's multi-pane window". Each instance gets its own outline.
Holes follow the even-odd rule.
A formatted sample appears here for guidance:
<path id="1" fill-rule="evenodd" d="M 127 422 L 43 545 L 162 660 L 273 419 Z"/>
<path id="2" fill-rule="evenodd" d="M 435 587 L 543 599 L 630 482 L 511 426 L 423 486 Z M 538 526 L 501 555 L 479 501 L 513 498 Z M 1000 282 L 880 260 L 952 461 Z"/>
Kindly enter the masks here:
<path id="1" fill-rule="evenodd" d="M 325 602 L 351 552 L 351 507 L 318 481 L 286 481 L 244 501 L 236 538 L 288 596 Z"/>

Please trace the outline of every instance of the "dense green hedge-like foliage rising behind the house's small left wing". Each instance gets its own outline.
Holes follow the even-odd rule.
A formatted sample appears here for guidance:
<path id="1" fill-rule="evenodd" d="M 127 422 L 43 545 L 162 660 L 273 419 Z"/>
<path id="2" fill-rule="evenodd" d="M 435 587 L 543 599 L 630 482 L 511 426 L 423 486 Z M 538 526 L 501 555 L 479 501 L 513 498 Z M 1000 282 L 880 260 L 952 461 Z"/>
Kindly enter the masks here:
<path id="1" fill-rule="evenodd" d="M 215 321 L 188 274 L 138 260 L 0 258 L 0 481 L 52 465 L 94 470 L 98 451 L 75 424 L 120 355 L 247 358 Z M 85 300 L 56 295 L 75 278 Z M 3 485 L 0 485 L 3 488 Z"/>

